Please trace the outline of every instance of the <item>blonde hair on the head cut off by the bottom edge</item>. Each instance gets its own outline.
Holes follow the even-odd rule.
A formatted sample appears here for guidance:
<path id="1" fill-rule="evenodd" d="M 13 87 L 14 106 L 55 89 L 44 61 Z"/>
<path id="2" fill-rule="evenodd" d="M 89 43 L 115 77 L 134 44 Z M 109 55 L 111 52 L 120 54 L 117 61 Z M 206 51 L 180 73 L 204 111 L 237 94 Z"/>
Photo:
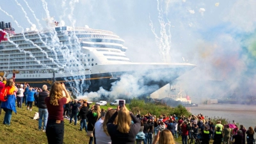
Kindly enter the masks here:
<path id="1" fill-rule="evenodd" d="M 159 144 L 175 144 L 172 136 L 172 132 L 170 132 L 168 129 L 164 129 L 160 132 L 159 136 Z"/>

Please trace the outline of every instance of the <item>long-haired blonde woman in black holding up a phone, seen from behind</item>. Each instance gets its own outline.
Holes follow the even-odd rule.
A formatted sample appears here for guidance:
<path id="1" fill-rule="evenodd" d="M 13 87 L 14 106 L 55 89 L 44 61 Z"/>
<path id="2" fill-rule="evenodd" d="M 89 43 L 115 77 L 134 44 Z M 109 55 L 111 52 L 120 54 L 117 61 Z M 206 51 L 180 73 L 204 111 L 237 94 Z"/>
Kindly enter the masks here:
<path id="1" fill-rule="evenodd" d="M 117 124 L 113 124 L 116 116 Z M 131 124 L 131 121 L 134 124 Z M 112 144 L 130 144 L 135 143 L 135 136 L 140 131 L 140 120 L 136 116 L 132 115 L 130 111 L 122 106 L 121 108 L 117 106 L 116 112 L 108 120 L 107 123 L 108 133 L 111 138 Z"/>

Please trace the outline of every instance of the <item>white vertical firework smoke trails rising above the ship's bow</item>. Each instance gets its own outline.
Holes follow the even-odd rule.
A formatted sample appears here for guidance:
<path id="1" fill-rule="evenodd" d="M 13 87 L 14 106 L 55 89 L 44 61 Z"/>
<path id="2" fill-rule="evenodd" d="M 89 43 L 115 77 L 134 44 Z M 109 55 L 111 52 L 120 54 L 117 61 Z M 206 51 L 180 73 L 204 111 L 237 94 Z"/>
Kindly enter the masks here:
<path id="1" fill-rule="evenodd" d="M 171 56 L 170 56 L 170 48 L 171 48 L 171 22 L 168 19 L 168 5 L 170 1 L 166 4 L 166 10 L 163 13 L 163 4 L 159 4 L 159 1 L 157 0 L 157 11 L 158 11 L 158 21 L 160 25 L 160 36 L 157 36 L 156 29 L 154 29 L 154 25 L 152 20 L 150 19 L 150 27 L 152 33 L 155 35 L 156 44 L 159 48 L 159 54 L 164 62 L 170 62 Z M 167 21 L 167 22 L 166 22 Z M 167 29 L 166 29 L 167 28 Z"/>

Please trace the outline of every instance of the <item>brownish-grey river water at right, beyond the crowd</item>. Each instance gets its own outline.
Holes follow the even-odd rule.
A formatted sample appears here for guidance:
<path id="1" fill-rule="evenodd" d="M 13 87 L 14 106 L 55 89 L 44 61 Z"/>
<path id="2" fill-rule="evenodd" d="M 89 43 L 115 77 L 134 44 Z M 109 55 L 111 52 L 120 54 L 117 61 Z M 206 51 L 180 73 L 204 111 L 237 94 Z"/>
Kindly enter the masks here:
<path id="1" fill-rule="evenodd" d="M 244 104 L 208 104 L 199 105 L 198 107 L 187 108 L 193 115 L 201 113 L 204 116 L 219 116 L 228 119 L 232 123 L 234 120 L 243 124 L 246 129 L 256 126 L 256 105 Z"/>

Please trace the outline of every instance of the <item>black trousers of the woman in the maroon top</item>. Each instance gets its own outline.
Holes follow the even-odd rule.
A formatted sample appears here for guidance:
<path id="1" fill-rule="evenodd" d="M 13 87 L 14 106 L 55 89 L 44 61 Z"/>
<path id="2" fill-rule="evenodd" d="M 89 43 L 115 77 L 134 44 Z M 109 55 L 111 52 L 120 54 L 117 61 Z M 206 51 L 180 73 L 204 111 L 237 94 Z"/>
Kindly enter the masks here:
<path id="1" fill-rule="evenodd" d="M 48 120 L 46 125 L 46 136 L 49 144 L 62 144 L 64 138 L 64 122 L 56 124 L 56 120 Z"/>

